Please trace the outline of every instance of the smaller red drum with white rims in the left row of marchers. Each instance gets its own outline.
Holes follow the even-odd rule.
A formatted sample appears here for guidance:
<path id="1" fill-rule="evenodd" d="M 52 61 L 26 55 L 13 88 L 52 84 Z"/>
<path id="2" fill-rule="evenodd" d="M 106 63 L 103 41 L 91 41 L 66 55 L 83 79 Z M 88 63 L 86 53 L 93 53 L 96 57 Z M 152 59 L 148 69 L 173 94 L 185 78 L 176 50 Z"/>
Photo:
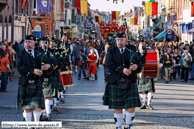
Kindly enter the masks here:
<path id="1" fill-rule="evenodd" d="M 72 71 L 63 71 L 60 73 L 60 77 L 63 87 L 74 86 Z"/>

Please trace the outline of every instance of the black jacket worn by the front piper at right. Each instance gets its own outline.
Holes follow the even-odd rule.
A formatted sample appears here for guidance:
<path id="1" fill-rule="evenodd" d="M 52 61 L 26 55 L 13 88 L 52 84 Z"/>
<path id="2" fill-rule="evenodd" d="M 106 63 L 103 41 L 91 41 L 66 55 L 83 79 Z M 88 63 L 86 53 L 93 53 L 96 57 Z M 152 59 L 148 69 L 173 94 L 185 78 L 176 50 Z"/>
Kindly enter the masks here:
<path id="1" fill-rule="evenodd" d="M 135 47 L 129 46 L 129 49 L 135 50 Z M 129 75 L 127 78 L 135 83 L 137 81 L 137 73 L 141 72 L 145 63 L 146 59 L 145 57 L 142 57 L 137 63 L 138 69 L 136 71 L 132 71 L 131 75 Z M 105 65 L 107 66 L 105 81 L 108 83 L 117 82 L 117 80 L 123 74 L 123 69 L 128 69 L 130 67 L 130 52 L 125 49 L 124 53 L 121 54 L 119 48 L 109 48 L 106 55 Z"/>

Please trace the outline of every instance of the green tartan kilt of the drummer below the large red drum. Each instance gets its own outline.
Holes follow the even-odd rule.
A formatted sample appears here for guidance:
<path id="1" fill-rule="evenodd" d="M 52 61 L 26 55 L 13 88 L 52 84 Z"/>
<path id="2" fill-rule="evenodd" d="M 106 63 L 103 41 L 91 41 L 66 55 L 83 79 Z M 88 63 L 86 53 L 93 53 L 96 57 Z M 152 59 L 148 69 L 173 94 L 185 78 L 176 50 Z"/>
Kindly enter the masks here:
<path id="1" fill-rule="evenodd" d="M 155 92 L 155 86 L 153 79 L 150 78 L 142 78 L 138 80 L 138 92 L 148 92 L 149 90 L 153 90 Z"/>

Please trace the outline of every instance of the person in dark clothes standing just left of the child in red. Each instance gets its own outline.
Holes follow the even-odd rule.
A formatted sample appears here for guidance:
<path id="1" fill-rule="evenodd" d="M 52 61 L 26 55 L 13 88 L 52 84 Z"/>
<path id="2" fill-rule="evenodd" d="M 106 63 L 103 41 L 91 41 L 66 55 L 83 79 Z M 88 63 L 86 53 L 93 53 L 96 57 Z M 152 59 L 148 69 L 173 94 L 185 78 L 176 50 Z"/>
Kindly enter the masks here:
<path id="1" fill-rule="evenodd" d="M 81 79 L 81 72 L 83 71 L 83 79 L 86 79 L 86 72 L 85 72 L 85 69 L 84 69 L 84 64 L 86 62 L 86 56 L 84 55 L 84 50 L 81 49 L 80 51 L 80 55 L 79 55 L 79 62 L 78 62 L 78 80 Z M 82 71 L 81 71 L 82 70 Z"/>

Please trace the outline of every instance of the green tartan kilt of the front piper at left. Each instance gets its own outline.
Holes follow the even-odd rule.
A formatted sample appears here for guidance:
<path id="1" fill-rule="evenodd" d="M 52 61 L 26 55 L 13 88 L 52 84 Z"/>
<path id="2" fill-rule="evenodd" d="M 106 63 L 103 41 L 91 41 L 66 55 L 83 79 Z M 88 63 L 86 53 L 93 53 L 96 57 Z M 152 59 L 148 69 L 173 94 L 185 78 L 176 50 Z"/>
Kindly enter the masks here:
<path id="1" fill-rule="evenodd" d="M 34 109 L 34 108 L 45 108 L 44 105 L 44 96 L 42 84 L 39 84 L 37 88 L 37 92 L 34 96 L 29 96 L 26 93 L 27 86 L 19 85 L 18 94 L 17 94 L 17 105 L 16 109 Z"/>

